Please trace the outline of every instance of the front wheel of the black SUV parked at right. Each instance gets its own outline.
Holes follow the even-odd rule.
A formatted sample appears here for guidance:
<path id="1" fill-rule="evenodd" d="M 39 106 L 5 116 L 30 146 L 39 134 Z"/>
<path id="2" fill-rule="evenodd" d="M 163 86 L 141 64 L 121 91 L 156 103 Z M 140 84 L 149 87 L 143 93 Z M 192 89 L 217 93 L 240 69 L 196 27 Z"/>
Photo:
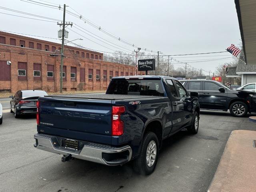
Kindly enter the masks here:
<path id="1" fill-rule="evenodd" d="M 236 101 L 230 105 L 229 112 L 234 117 L 244 117 L 248 113 L 248 106 L 242 101 Z"/>

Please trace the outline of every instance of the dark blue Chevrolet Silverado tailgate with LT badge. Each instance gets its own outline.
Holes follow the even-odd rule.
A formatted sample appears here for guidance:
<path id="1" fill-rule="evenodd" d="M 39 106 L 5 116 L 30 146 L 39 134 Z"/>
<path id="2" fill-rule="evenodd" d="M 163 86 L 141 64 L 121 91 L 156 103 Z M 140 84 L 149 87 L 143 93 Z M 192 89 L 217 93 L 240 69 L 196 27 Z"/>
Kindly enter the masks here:
<path id="1" fill-rule="evenodd" d="M 111 100 L 40 97 L 38 132 L 111 144 Z"/>

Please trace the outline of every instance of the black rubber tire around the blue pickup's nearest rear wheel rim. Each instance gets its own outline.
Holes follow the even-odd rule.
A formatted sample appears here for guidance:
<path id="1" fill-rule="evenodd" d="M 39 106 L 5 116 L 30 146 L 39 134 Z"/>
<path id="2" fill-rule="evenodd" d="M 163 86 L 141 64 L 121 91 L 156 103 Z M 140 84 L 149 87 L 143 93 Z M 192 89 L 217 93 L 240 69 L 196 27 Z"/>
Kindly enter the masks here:
<path id="1" fill-rule="evenodd" d="M 155 152 L 154 162 L 152 163 L 151 166 L 148 166 L 146 157 L 147 157 L 147 151 L 148 151 L 148 146 L 150 142 L 151 144 L 155 144 L 156 152 Z M 134 171 L 137 172 L 138 174 L 143 174 L 143 175 L 149 175 L 152 172 L 154 172 L 154 169 L 156 168 L 156 164 L 158 160 L 158 153 L 159 153 L 159 141 L 156 134 L 154 134 L 153 132 L 146 133 L 142 141 L 140 155 L 137 159 L 133 161 Z M 152 153 L 152 155 L 154 156 L 154 153 Z M 149 161 L 152 160 L 151 156 L 148 159 Z"/>

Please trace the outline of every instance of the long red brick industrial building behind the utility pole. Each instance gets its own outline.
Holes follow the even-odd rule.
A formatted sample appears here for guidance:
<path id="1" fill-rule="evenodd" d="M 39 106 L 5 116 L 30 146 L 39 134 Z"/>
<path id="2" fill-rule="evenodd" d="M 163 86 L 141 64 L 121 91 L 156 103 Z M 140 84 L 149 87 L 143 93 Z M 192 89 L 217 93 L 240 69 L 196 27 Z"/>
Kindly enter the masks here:
<path id="1" fill-rule="evenodd" d="M 61 44 L 0 32 L 0 91 L 60 90 Z M 106 90 L 113 76 L 135 74 L 135 66 L 106 62 L 103 54 L 64 46 L 63 90 Z M 140 74 L 140 72 L 139 72 Z"/>

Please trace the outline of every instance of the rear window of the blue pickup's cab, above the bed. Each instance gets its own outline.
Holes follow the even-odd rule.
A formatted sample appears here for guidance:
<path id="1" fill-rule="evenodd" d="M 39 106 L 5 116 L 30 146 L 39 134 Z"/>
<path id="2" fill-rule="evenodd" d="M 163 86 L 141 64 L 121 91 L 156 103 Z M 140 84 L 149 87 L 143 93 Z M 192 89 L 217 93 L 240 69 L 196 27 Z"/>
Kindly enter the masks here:
<path id="1" fill-rule="evenodd" d="M 108 94 L 164 96 L 160 80 L 112 80 Z"/>

